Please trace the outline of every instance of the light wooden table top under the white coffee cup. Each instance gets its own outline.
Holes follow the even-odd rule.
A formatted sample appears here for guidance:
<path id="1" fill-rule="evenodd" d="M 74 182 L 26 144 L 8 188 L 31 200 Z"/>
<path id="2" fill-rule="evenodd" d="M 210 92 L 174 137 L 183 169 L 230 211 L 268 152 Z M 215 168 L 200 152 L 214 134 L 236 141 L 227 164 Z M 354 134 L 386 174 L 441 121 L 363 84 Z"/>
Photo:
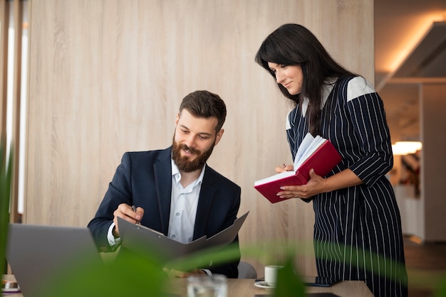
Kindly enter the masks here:
<path id="1" fill-rule="evenodd" d="M 14 280 L 12 275 L 4 275 L 2 279 Z M 187 279 L 171 279 L 169 293 L 187 297 Z M 254 279 L 228 279 L 228 297 L 267 296 L 271 291 L 254 286 Z M 307 293 L 333 293 L 340 297 L 373 297 L 372 292 L 363 281 L 342 281 L 329 288 L 307 287 Z M 8 297 L 23 297 L 21 293 L 9 294 Z"/>

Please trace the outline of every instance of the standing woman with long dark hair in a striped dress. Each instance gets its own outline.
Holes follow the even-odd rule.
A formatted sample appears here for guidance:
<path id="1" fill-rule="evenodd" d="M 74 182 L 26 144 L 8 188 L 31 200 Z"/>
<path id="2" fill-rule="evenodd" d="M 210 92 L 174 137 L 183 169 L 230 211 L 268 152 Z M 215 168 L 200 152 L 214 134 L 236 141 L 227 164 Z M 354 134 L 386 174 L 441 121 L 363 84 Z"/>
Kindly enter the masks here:
<path id="1" fill-rule="evenodd" d="M 364 280 L 375 296 L 407 296 L 400 212 L 385 177 L 393 155 L 380 96 L 364 77 L 336 63 L 300 24 L 286 23 L 270 33 L 256 63 L 294 107 L 286 117 L 292 158 L 299 158 L 307 134 L 328 139 L 341 155 L 328 173 L 308 168 L 308 182 L 282 185 L 276 194 L 312 202 L 318 276 Z M 388 267 L 388 261 L 395 266 L 378 268 Z"/>

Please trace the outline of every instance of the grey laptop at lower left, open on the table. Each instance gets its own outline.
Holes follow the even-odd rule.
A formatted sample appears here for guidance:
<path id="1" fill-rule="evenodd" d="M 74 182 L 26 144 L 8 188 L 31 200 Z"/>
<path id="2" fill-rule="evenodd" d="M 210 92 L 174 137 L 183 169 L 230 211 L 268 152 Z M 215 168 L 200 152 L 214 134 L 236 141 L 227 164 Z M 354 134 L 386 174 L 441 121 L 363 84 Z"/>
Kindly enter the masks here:
<path id="1" fill-rule="evenodd" d="M 74 269 L 103 265 L 86 227 L 9 224 L 6 259 L 26 297 L 45 296 L 59 277 L 76 275 Z"/>

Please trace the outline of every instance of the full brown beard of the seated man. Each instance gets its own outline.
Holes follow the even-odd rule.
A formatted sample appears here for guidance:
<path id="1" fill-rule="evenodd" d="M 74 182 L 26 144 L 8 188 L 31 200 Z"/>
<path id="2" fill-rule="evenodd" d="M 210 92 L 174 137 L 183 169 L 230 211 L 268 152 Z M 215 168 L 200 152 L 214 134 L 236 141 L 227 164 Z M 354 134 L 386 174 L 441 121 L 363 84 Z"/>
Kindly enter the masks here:
<path id="1" fill-rule="evenodd" d="M 178 167 L 178 169 L 180 169 L 180 171 L 183 172 L 197 171 L 198 169 L 203 168 L 207 159 L 211 156 L 211 153 L 214 150 L 214 146 L 215 142 L 207 151 L 204 151 L 203 153 L 202 151 L 199 151 L 195 148 L 190 148 L 185 144 L 177 144 L 174 135 L 174 139 L 172 141 L 172 159 L 175 162 L 175 165 Z M 181 150 L 186 150 L 189 151 L 190 153 L 194 153 L 195 159 L 193 161 L 190 161 L 189 157 L 181 156 Z"/>

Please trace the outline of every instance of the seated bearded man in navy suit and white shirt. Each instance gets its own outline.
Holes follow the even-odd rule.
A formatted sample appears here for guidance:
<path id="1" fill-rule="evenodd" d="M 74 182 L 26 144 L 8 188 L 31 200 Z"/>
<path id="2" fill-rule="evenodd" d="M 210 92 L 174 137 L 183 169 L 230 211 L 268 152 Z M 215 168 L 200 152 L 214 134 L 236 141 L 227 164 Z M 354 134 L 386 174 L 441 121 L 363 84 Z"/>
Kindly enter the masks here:
<path id="1" fill-rule="evenodd" d="M 206 164 L 222 139 L 225 119 L 226 105 L 218 95 L 192 92 L 180 104 L 172 146 L 124 153 L 95 217 L 88 223 L 101 252 L 120 245 L 118 217 L 182 243 L 212 237 L 234 223 L 241 189 Z M 233 244 L 238 247 L 238 237 Z M 239 259 L 168 273 L 237 278 Z"/>

